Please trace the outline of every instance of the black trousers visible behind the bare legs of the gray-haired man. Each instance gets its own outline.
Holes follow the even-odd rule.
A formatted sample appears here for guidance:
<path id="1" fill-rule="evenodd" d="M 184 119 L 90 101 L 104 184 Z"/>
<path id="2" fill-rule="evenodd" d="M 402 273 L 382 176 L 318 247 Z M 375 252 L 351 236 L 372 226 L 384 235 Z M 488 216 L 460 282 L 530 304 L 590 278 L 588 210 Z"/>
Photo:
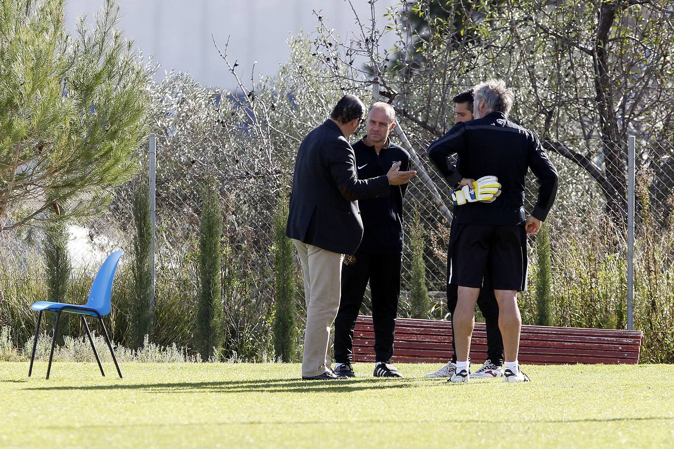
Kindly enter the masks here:
<path id="1" fill-rule="evenodd" d="M 452 363 L 456 364 L 456 346 L 454 345 L 454 310 L 458 301 L 458 285 L 447 285 L 447 308 L 452 317 Z M 480 289 L 477 306 L 485 317 L 487 327 L 487 359 L 493 364 L 503 364 L 503 337 L 499 329 L 499 304 L 491 288 Z"/>

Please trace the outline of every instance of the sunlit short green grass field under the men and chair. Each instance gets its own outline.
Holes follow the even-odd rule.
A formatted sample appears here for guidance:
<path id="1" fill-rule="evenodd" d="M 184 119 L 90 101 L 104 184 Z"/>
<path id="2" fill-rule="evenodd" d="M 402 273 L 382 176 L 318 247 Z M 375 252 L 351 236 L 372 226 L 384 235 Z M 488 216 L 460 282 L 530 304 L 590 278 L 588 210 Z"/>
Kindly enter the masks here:
<path id="1" fill-rule="evenodd" d="M 0 363 L 0 446 L 672 447 L 674 366 L 526 366 L 532 382 L 301 381 L 297 364 Z M 114 375 L 113 375 L 114 374 Z M 514 444 L 515 446 L 512 446 Z"/>

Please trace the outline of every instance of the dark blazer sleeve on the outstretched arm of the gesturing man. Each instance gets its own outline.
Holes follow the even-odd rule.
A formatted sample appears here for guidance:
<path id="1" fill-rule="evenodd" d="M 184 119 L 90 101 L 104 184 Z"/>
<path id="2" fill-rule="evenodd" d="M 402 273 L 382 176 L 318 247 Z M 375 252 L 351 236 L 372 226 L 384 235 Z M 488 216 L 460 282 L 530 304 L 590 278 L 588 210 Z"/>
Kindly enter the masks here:
<path id="1" fill-rule="evenodd" d="M 390 194 L 388 177 L 359 179 L 356 172 L 356 155 L 344 137 L 339 137 L 327 151 L 328 169 L 342 197 L 348 201 L 386 197 Z"/>

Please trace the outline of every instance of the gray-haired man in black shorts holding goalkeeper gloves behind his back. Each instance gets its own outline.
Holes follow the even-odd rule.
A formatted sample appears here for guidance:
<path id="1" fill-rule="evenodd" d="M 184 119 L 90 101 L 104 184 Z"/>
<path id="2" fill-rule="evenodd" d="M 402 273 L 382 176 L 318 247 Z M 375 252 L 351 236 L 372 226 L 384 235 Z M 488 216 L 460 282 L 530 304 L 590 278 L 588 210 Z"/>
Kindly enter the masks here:
<path id="1" fill-rule="evenodd" d="M 452 188 L 474 186 L 472 199 L 456 207 L 456 240 L 449 254 L 449 282 L 458 285 L 453 317 L 457 361 L 450 382 L 470 380 L 474 308 L 487 271 L 499 304 L 503 381 L 528 380 L 517 359 L 522 327 L 517 293 L 526 289 L 526 236 L 536 234 L 547 217 L 557 195 L 558 176 L 538 137 L 508 120 L 513 100 L 502 80 L 479 83 L 474 87 L 474 120 L 457 123 L 428 149 L 429 158 Z M 461 158 L 461 172 L 448 160 L 454 153 Z M 539 181 L 539 193 L 527 217 L 524 181 L 529 168 Z M 480 201 L 479 184 L 474 180 L 484 176 L 498 178 L 500 196 Z"/>

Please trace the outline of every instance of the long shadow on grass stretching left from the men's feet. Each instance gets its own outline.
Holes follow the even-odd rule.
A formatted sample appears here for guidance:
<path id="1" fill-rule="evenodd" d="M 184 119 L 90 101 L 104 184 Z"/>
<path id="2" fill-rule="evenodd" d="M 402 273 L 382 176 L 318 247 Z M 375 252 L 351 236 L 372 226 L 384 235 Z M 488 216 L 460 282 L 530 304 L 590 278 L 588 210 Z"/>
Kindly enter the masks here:
<path id="1" fill-rule="evenodd" d="M 388 383 L 380 379 L 350 380 L 223 380 L 220 382 L 181 382 L 163 384 L 119 384 L 90 386 L 42 386 L 26 388 L 26 390 L 148 390 L 152 392 L 350 392 L 383 388 L 407 388 L 411 382 Z"/>

